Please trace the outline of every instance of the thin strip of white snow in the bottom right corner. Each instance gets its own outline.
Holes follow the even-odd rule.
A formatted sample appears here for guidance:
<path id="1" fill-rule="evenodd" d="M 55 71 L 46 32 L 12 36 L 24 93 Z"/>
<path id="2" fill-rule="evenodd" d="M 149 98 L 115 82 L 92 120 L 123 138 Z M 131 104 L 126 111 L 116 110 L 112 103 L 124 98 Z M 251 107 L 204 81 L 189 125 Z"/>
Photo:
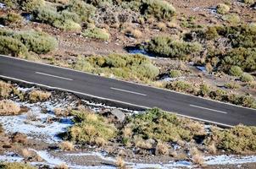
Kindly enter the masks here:
<path id="1" fill-rule="evenodd" d="M 256 162 L 256 155 L 213 155 L 204 157 L 207 165 L 227 165 Z"/>

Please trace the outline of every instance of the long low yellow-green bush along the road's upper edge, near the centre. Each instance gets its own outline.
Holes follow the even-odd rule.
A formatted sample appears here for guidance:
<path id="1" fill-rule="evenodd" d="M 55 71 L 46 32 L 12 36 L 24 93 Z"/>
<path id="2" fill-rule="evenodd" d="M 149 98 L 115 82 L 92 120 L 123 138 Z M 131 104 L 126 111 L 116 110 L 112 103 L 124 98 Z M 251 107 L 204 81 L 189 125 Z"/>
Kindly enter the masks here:
<path id="1" fill-rule="evenodd" d="M 78 57 L 75 68 L 122 79 L 155 79 L 159 68 L 142 55 L 110 54 L 107 57 Z"/>

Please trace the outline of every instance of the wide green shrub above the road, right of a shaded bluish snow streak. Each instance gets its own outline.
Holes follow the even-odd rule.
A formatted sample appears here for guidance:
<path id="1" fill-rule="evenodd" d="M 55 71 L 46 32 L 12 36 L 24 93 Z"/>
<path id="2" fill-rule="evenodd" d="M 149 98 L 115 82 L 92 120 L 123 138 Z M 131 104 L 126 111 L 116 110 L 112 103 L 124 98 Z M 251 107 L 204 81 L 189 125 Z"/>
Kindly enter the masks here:
<path id="1" fill-rule="evenodd" d="M 146 49 L 161 57 L 184 58 L 202 50 L 197 42 L 174 41 L 169 36 L 157 36 L 148 42 Z"/>

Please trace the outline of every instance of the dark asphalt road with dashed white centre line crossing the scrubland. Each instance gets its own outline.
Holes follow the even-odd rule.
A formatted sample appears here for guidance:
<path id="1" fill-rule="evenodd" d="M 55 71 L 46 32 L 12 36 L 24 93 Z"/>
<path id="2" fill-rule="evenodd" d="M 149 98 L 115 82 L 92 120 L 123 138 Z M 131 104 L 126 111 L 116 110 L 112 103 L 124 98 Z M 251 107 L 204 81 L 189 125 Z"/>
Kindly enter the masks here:
<path id="1" fill-rule="evenodd" d="M 239 123 L 256 125 L 256 110 L 253 109 L 14 57 L 0 56 L 0 77 L 47 85 L 129 106 L 159 107 L 164 111 L 227 127 Z"/>

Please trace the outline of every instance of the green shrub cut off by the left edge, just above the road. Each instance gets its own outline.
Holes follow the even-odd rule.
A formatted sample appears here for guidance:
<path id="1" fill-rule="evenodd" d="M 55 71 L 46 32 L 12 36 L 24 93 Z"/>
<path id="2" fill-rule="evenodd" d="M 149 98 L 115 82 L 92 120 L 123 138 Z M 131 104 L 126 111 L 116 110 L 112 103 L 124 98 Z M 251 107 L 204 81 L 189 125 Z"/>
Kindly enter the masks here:
<path id="1" fill-rule="evenodd" d="M 14 57 L 25 56 L 27 48 L 19 40 L 12 37 L 0 35 L 0 53 Z"/>

